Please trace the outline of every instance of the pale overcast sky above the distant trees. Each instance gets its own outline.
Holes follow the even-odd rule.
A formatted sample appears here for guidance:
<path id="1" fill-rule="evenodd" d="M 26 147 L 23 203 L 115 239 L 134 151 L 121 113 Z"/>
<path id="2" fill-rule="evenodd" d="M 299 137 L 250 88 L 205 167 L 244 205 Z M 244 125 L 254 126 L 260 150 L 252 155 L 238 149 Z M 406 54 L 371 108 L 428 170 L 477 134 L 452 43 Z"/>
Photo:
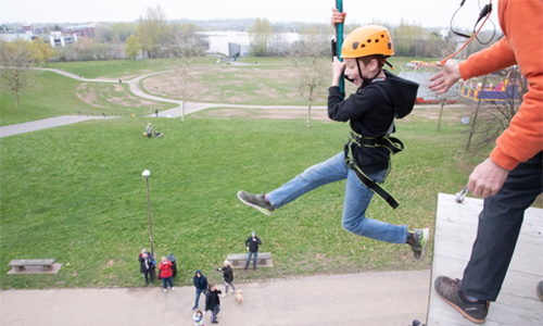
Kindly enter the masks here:
<path id="1" fill-rule="evenodd" d="M 487 3 L 489 0 L 480 0 Z M 497 25 L 497 1 L 492 18 Z M 425 27 L 447 27 L 460 0 L 343 0 L 348 20 L 396 24 L 401 17 Z M 327 23 L 334 0 L 24 0 L 2 1 L 0 23 L 131 22 L 149 5 L 161 5 L 168 20 L 266 17 L 272 22 Z M 455 26 L 472 28 L 478 0 L 466 0 Z M 348 23 L 349 23 L 348 21 Z M 491 24 L 488 24 L 491 28 Z M 484 29 L 488 29 L 487 26 Z"/>

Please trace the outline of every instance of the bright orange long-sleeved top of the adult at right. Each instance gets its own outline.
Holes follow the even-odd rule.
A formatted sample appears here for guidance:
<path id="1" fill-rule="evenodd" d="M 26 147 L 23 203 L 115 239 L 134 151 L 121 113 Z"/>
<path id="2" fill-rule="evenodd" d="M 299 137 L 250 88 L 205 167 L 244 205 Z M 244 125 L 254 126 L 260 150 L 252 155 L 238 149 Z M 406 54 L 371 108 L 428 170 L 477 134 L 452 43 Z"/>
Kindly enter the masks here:
<path id="1" fill-rule="evenodd" d="M 513 170 L 543 150 L 543 1 L 501 0 L 500 24 L 506 37 L 459 65 L 466 78 L 515 63 L 528 79 L 528 92 L 490 158 Z M 512 61 L 513 59 L 513 61 Z"/>

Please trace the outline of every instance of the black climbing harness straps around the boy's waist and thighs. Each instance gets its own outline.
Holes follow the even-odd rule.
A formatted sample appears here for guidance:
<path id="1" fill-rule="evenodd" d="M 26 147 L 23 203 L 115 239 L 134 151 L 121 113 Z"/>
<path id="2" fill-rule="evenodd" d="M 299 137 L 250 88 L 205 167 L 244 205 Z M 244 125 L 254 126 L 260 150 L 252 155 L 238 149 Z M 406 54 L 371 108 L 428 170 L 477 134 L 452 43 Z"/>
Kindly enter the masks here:
<path id="1" fill-rule="evenodd" d="M 345 159 L 345 163 L 354 171 L 358 180 L 361 180 L 364 186 L 371 189 L 375 193 L 379 195 L 393 210 L 395 210 L 400 205 L 397 201 L 392 198 L 392 196 L 387 192 L 387 190 L 379 186 L 378 183 L 364 174 L 364 172 L 362 172 L 362 168 L 356 164 L 356 162 L 354 162 L 353 150 L 356 146 L 370 148 L 384 147 L 392 154 L 396 154 L 404 150 L 403 142 L 395 137 L 390 137 L 389 135 L 384 137 L 365 137 L 356 134 L 353 129 L 351 129 L 350 141 L 348 145 L 349 153 Z M 387 179 L 387 177 L 389 176 L 389 172 L 387 172 L 387 176 L 384 176 L 384 179 Z M 384 180 L 382 183 L 384 183 Z"/>

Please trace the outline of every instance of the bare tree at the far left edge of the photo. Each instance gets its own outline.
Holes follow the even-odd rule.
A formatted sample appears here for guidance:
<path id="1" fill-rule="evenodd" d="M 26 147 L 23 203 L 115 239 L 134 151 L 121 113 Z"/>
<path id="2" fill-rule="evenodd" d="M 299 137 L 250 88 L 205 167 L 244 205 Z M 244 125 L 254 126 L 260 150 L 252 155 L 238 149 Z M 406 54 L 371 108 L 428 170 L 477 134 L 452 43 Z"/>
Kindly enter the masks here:
<path id="1" fill-rule="evenodd" d="M 17 39 L 14 42 L 0 40 L 0 64 L 2 84 L 15 93 L 16 108 L 18 109 L 18 96 L 28 86 L 26 78 L 28 63 L 33 60 L 33 54 L 28 47 L 28 41 Z"/>

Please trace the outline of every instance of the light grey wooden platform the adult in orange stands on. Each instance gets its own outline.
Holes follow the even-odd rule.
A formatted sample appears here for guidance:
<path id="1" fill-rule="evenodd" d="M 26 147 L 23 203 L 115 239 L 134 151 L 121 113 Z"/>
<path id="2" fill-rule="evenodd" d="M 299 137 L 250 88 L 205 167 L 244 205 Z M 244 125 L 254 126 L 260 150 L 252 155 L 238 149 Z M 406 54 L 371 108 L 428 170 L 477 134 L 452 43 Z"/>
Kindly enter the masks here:
<path id="1" fill-rule="evenodd" d="M 439 275 L 462 277 L 477 237 L 482 206 L 483 200 L 478 198 L 466 198 L 458 204 L 454 195 L 440 192 L 438 196 L 426 315 L 428 326 L 476 325 L 443 301 L 433 283 Z M 456 233 L 458 238 L 451 237 L 451 233 Z M 543 210 L 529 208 L 502 291 L 496 302 L 491 303 L 484 325 L 543 325 L 543 302 L 535 296 L 535 285 L 543 279 L 543 250 L 538 250 L 543 248 L 542 234 Z M 522 272 L 526 266 L 530 266 L 530 273 Z"/>

